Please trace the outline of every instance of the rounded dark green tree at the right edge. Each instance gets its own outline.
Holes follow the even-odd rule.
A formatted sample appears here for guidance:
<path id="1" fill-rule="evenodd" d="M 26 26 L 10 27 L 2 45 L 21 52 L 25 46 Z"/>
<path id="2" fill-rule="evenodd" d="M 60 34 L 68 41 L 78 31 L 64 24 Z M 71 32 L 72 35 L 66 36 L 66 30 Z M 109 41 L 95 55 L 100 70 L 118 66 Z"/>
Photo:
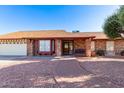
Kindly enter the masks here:
<path id="1" fill-rule="evenodd" d="M 124 5 L 105 20 L 103 30 L 109 38 L 124 38 Z"/>

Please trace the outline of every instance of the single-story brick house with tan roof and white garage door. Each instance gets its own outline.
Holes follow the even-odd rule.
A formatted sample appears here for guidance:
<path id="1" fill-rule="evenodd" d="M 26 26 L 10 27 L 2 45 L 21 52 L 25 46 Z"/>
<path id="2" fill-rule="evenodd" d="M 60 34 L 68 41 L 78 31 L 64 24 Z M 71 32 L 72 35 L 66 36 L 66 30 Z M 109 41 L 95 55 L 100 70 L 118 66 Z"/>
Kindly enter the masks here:
<path id="1" fill-rule="evenodd" d="M 64 30 L 19 31 L 0 35 L 0 55 L 73 55 L 84 49 L 85 56 L 92 51 L 106 50 L 108 55 L 124 50 L 124 40 L 110 40 L 103 32 L 66 32 Z"/>

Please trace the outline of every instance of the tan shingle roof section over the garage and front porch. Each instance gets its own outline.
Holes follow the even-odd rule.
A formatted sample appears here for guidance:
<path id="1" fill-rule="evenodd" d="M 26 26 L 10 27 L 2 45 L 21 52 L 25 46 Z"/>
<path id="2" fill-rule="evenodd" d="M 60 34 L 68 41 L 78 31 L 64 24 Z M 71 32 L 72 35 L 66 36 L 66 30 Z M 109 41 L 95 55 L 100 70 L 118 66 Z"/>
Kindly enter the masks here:
<path id="1" fill-rule="evenodd" d="M 66 32 L 64 30 L 40 30 L 40 31 L 19 31 L 0 35 L 0 39 L 21 39 L 21 38 L 88 38 L 95 37 L 81 33 Z"/>

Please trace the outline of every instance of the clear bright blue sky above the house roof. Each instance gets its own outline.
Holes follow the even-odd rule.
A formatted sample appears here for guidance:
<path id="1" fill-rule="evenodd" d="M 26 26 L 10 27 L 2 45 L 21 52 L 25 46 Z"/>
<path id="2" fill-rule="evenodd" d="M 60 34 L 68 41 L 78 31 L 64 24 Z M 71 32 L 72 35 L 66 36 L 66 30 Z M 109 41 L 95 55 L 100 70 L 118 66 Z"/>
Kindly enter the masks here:
<path id="1" fill-rule="evenodd" d="M 0 6 L 0 34 L 30 30 L 102 31 L 104 20 L 119 6 Z"/>

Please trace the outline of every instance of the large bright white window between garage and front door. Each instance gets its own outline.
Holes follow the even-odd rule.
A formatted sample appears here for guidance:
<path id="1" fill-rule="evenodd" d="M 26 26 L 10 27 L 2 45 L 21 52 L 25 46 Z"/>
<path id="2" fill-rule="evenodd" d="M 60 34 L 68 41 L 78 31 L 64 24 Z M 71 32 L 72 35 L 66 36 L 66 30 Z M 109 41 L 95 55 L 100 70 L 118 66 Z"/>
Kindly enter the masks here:
<path id="1" fill-rule="evenodd" d="M 40 51 L 50 51 L 50 40 L 40 40 Z"/>

